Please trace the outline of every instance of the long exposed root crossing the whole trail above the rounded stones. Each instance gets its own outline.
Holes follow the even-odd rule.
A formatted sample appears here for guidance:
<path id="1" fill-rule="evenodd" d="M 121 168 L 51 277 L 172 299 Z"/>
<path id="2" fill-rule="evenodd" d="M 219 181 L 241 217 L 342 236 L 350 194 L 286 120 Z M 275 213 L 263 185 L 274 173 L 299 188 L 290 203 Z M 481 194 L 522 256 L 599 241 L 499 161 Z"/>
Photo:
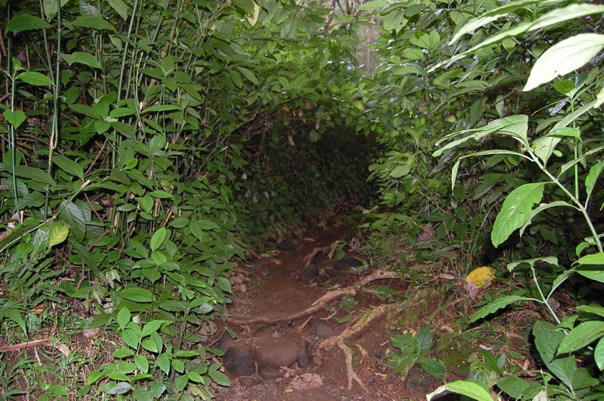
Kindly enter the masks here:
<path id="1" fill-rule="evenodd" d="M 308 308 L 296 312 L 295 314 L 278 317 L 259 316 L 257 318 L 252 319 L 230 318 L 227 319 L 227 322 L 234 326 L 246 326 L 248 324 L 276 324 L 297 319 L 304 319 L 308 316 L 316 314 L 318 311 L 323 310 L 325 306 L 328 306 L 334 301 L 338 301 L 338 299 L 342 299 L 344 296 L 347 296 L 349 294 L 355 295 L 357 291 L 367 286 L 367 284 L 374 282 L 375 280 L 398 278 L 400 277 L 397 273 L 386 272 L 385 270 L 377 269 L 372 274 L 369 274 L 368 276 L 365 276 L 360 279 L 355 285 L 343 289 L 336 289 L 330 292 L 326 292 L 325 294 L 323 294 L 323 296 L 314 301 L 311 306 L 308 306 Z"/>

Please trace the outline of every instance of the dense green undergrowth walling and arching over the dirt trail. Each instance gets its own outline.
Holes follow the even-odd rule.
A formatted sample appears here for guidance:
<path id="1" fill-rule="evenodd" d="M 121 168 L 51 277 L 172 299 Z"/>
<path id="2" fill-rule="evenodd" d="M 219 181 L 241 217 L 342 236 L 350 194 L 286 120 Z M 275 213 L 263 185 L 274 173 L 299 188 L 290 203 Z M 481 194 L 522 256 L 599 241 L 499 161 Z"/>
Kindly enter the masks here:
<path id="1" fill-rule="evenodd" d="M 537 385 L 451 389 L 598 397 L 603 6 L 338 4 L 0 1 L 0 324 L 53 350 L 4 352 L 4 397 L 210 398 L 234 263 L 375 193 L 365 228 L 414 262 L 495 270 L 470 324 L 549 314 Z"/>

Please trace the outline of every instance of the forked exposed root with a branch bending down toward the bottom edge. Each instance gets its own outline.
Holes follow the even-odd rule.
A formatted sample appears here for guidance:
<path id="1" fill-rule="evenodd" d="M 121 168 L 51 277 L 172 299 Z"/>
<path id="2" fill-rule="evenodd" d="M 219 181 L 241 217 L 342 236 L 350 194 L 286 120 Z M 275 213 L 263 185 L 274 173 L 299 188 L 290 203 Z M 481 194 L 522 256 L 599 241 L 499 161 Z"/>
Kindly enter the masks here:
<path id="1" fill-rule="evenodd" d="M 357 373 L 355 373 L 355 370 L 352 368 L 352 351 L 350 351 L 350 348 L 346 345 L 345 341 L 347 339 L 351 338 L 352 336 L 356 336 L 357 334 L 364 331 L 367 328 L 367 326 L 370 326 L 370 324 L 372 324 L 373 321 L 376 321 L 377 319 L 381 318 L 385 314 L 390 314 L 392 312 L 399 311 L 399 309 L 401 309 L 401 307 L 402 307 L 401 304 L 386 304 L 386 305 L 378 306 L 377 308 L 372 309 L 371 311 L 367 312 L 367 314 L 362 316 L 362 318 L 359 319 L 359 321 L 357 321 L 357 323 L 355 323 L 353 326 L 350 326 L 349 328 L 347 328 L 345 331 L 340 333 L 338 336 L 327 338 L 326 340 L 324 340 L 322 343 L 319 344 L 319 348 L 323 348 L 324 350 L 329 350 L 333 346 L 338 346 L 343 351 L 343 353 L 346 357 L 346 374 L 348 377 L 348 390 L 352 389 L 352 380 L 354 380 L 355 382 L 358 383 L 358 385 L 360 385 L 363 388 L 363 390 L 365 390 L 365 392 L 368 391 L 367 386 L 365 386 L 365 383 L 363 383 L 363 381 L 359 378 Z"/>

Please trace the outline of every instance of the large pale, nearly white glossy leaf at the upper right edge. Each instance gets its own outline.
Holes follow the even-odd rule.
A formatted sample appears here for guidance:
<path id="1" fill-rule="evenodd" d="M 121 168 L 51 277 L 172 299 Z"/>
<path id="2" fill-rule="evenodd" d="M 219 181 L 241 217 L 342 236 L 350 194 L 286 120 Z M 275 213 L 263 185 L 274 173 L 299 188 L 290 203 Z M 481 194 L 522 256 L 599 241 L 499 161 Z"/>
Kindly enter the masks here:
<path id="1" fill-rule="evenodd" d="M 529 91 L 541 84 L 554 80 L 583 67 L 604 48 L 604 35 L 581 33 L 556 43 L 536 60 L 527 85 L 522 90 Z"/>

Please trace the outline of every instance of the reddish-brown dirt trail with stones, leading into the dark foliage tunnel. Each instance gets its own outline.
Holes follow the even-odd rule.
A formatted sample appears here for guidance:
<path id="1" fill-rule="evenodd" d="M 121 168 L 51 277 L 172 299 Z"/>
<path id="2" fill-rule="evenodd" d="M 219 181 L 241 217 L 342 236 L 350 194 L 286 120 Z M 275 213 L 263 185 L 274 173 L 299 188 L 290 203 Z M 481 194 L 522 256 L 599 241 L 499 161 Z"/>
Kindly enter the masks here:
<path id="1" fill-rule="evenodd" d="M 337 240 L 350 240 L 345 237 L 343 227 L 310 232 L 295 243 L 284 243 L 281 248 L 286 250 L 240 267 L 233 278 L 230 319 L 286 318 L 308 308 L 330 290 L 358 282 L 368 272 L 358 273 L 359 267 L 338 264 L 335 257 L 329 260 L 327 252 L 313 257 L 315 267 L 306 267 L 304 258 L 313 250 L 328 247 Z M 347 252 L 348 264 L 359 264 L 352 257 L 362 260 L 360 255 Z M 320 275 L 314 275 L 318 270 Z M 301 278 L 300 274 L 309 271 L 313 278 L 306 283 L 308 277 Z M 392 284 L 392 280 L 372 284 Z M 238 334 L 237 341 L 225 334 L 217 346 L 226 350 L 223 362 L 232 387 L 221 390 L 217 400 L 404 399 L 407 394 L 401 375 L 387 368 L 384 358 L 389 346 L 384 328 L 386 319 L 346 341 L 354 355 L 352 366 L 366 390 L 357 383 L 347 389 L 345 355 L 340 348 L 335 346 L 326 351 L 319 347 L 321 341 L 338 336 L 355 324 L 362 311 L 382 304 L 372 294 L 359 291 L 354 301 L 348 298 L 336 301 L 328 310 L 307 319 L 272 325 L 230 324 Z"/>

